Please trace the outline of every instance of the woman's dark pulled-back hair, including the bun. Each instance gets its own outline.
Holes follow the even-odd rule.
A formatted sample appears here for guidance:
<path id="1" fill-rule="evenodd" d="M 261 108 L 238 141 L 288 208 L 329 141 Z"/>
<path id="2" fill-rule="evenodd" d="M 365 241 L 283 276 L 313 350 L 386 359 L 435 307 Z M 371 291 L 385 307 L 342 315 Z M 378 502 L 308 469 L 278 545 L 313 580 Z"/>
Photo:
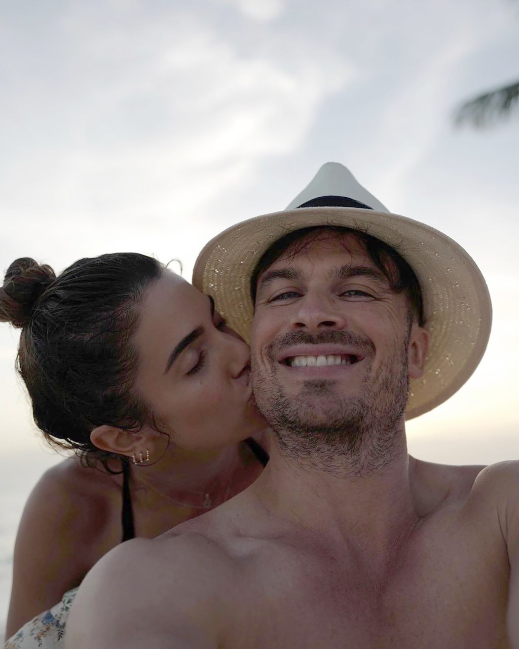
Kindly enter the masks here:
<path id="1" fill-rule="evenodd" d="M 80 259 L 56 277 L 24 257 L 7 269 L 0 321 L 21 328 L 16 367 L 48 441 L 107 465 L 91 431 L 109 424 L 136 431 L 153 422 L 133 390 L 137 356 L 131 338 L 139 302 L 163 265 L 119 252 Z"/>

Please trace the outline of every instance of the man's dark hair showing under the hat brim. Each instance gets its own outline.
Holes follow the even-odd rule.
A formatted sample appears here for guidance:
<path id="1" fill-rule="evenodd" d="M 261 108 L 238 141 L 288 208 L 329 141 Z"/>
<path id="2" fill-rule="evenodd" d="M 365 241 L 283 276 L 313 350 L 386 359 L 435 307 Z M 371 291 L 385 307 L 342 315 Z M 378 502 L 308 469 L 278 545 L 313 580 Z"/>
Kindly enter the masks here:
<path id="1" fill-rule="evenodd" d="M 315 239 L 322 236 L 323 233 L 337 234 L 346 236 L 353 234 L 361 245 L 363 245 L 366 254 L 376 267 L 383 273 L 389 282 L 391 290 L 395 293 L 405 293 L 409 301 L 409 312 L 411 317 L 416 318 L 420 326 L 424 326 L 424 311 L 422 304 L 422 291 L 416 275 L 405 259 L 391 246 L 380 239 L 353 228 L 343 228 L 340 226 L 313 226 L 300 228 L 285 234 L 261 255 L 258 263 L 254 267 L 252 277 L 250 278 L 250 295 L 252 302 L 256 302 L 256 291 L 258 289 L 259 276 L 269 268 L 272 263 L 276 262 L 283 254 L 291 249 L 291 256 L 296 256 L 304 251 Z M 295 245 L 298 244 L 298 245 Z"/>

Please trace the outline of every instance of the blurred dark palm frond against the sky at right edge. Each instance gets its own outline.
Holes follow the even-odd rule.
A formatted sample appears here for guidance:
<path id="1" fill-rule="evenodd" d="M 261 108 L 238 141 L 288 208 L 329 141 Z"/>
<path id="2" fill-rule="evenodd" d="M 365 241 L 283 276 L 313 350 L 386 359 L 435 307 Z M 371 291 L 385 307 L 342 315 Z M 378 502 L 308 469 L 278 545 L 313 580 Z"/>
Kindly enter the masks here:
<path id="1" fill-rule="evenodd" d="M 457 126 L 470 124 L 481 129 L 509 117 L 518 104 L 519 81 L 461 104 L 454 121 Z"/>

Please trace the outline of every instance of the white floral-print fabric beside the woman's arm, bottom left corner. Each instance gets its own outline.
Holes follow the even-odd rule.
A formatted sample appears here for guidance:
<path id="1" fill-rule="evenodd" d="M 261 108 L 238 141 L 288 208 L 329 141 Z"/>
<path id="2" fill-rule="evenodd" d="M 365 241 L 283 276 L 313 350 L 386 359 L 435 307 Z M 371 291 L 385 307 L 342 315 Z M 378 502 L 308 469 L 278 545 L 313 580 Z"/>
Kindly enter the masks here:
<path id="1" fill-rule="evenodd" d="M 67 591 L 56 606 L 24 624 L 8 639 L 4 649 L 62 649 L 67 617 L 77 591 Z"/>

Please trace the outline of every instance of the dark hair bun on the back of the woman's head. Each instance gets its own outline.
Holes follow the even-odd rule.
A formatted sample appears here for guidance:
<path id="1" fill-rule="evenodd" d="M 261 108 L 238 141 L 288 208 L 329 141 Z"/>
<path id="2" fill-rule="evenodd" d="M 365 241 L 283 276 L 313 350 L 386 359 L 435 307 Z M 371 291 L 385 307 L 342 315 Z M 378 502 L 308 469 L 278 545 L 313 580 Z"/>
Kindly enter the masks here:
<path id="1" fill-rule="evenodd" d="M 55 278 L 50 266 L 40 266 L 30 257 L 12 262 L 0 289 L 0 321 L 17 327 L 27 324 L 40 295 Z"/>

